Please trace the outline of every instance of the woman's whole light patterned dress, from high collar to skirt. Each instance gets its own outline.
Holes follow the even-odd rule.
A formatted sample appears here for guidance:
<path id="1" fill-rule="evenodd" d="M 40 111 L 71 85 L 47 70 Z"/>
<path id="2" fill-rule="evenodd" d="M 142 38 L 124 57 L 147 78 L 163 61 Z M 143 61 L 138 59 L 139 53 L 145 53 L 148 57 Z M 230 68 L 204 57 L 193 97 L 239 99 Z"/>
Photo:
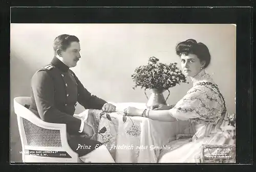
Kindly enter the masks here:
<path id="1" fill-rule="evenodd" d="M 197 78 L 191 78 L 193 87 L 169 110 L 177 120 L 190 121 L 189 128 L 194 136 L 169 142 L 172 149 L 161 151 L 159 163 L 196 163 L 202 144 L 225 142 L 218 137 L 226 115 L 223 95 L 205 70 L 199 72 Z"/>

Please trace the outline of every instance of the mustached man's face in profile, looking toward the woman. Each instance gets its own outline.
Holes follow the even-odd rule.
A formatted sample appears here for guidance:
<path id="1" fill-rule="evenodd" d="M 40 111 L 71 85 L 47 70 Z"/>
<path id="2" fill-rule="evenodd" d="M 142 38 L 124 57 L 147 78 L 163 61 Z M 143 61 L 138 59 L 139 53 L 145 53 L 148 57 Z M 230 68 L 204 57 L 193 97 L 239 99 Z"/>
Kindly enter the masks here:
<path id="1" fill-rule="evenodd" d="M 61 51 L 60 57 L 63 58 L 63 62 L 69 66 L 76 66 L 78 60 L 81 58 L 80 56 L 80 44 L 79 42 L 71 42 L 70 46 L 66 49 L 66 51 Z"/>

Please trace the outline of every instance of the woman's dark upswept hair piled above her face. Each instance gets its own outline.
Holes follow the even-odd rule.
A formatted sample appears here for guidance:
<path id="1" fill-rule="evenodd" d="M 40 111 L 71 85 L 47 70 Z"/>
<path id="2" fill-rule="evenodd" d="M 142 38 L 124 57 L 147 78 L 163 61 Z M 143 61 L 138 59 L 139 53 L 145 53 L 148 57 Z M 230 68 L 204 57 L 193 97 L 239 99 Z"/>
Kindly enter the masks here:
<path id="1" fill-rule="evenodd" d="M 210 52 L 208 47 L 202 42 L 197 42 L 195 39 L 187 39 L 183 42 L 178 43 L 176 46 L 176 54 L 181 56 L 182 54 L 195 54 L 200 61 L 205 61 L 204 68 L 210 63 Z"/>

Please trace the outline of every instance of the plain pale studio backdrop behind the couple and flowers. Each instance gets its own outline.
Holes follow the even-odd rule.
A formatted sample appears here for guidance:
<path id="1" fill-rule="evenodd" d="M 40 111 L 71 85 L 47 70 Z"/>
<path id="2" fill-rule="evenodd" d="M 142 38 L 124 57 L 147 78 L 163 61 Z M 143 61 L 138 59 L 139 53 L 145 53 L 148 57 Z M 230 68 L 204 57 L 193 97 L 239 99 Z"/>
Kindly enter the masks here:
<path id="1" fill-rule="evenodd" d="M 236 26 L 233 24 L 11 24 L 11 162 L 22 162 L 16 96 L 30 96 L 31 77 L 53 58 L 53 40 L 60 34 L 80 40 L 81 59 L 71 68 L 92 94 L 109 102 L 146 103 L 144 90 L 132 88 L 132 73 L 154 56 L 162 63 L 177 62 L 175 47 L 186 39 L 207 45 L 211 54 L 206 71 L 225 97 L 227 111 L 236 112 Z M 177 103 L 191 87 L 170 88 L 168 104 Z M 168 92 L 164 93 L 167 96 Z M 76 113 L 83 111 L 77 106 Z"/>

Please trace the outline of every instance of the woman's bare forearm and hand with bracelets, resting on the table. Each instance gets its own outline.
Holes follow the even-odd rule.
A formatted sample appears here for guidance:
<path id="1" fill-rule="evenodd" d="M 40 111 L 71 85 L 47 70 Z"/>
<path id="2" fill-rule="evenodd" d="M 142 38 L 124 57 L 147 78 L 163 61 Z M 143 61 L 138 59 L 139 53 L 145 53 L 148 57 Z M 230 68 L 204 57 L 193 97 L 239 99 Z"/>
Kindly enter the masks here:
<path id="1" fill-rule="evenodd" d="M 151 118 L 153 120 L 159 120 L 159 121 L 176 121 L 177 119 L 170 114 L 169 110 L 145 110 L 143 114 L 144 109 L 137 109 L 134 107 L 129 107 L 124 110 L 124 112 L 128 116 L 145 116 L 148 118 Z"/>

